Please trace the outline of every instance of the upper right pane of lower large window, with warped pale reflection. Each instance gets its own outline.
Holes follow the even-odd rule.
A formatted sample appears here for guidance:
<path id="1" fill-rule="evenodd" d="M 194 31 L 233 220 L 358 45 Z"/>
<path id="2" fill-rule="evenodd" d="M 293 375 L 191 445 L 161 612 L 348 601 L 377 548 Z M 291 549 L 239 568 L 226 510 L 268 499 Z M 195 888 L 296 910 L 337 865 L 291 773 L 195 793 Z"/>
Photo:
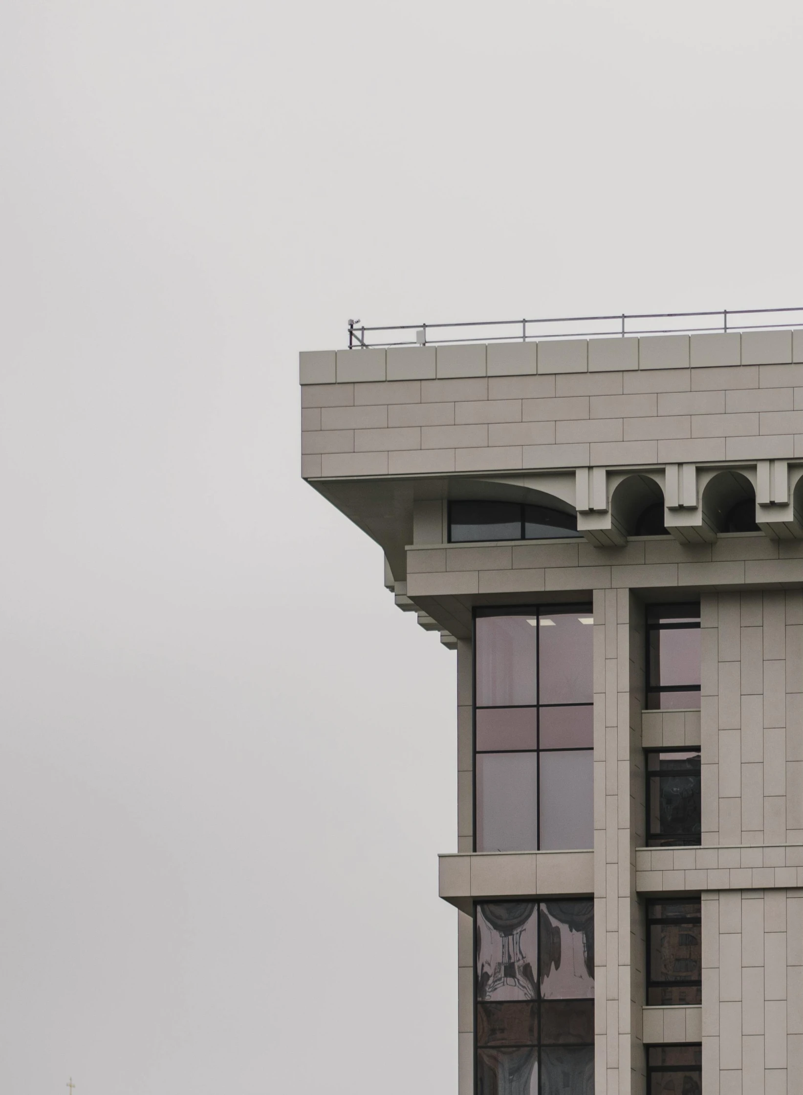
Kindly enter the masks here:
<path id="1" fill-rule="evenodd" d="M 544 1000 L 594 996 L 594 902 L 542 901 L 540 983 Z"/>

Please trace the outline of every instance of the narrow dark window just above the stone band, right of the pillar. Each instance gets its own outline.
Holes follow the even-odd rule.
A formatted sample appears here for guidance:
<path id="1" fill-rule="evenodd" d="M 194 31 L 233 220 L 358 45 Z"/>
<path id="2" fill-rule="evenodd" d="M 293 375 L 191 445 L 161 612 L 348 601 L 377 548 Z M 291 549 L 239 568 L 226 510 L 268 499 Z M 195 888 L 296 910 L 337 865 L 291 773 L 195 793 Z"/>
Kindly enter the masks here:
<path id="1" fill-rule="evenodd" d="M 701 828 L 700 750 L 649 750 L 647 848 L 699 844 Z"/>

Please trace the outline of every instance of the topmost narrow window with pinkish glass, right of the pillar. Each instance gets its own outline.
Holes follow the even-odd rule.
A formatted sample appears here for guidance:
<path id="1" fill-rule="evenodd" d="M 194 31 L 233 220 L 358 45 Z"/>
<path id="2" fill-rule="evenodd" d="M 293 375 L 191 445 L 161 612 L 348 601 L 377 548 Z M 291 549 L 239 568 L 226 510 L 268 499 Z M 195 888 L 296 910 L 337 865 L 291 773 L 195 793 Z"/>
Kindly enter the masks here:
<path id="1" fill-rule="evenodd" d="M 646 705 L 700 706 L 700 606 L 651 604 L 646 612 Z"/>

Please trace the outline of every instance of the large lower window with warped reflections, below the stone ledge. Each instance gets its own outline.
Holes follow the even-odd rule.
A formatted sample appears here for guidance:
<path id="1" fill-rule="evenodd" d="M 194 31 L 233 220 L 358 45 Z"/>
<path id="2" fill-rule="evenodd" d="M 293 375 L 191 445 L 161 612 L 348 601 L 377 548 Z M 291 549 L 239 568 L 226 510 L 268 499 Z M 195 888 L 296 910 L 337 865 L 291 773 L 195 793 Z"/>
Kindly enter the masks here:
<path id="1" fill-rule="evenodd" d="M 475 912 L 478 1095 L 593 1095 L 594 902 Z"/>

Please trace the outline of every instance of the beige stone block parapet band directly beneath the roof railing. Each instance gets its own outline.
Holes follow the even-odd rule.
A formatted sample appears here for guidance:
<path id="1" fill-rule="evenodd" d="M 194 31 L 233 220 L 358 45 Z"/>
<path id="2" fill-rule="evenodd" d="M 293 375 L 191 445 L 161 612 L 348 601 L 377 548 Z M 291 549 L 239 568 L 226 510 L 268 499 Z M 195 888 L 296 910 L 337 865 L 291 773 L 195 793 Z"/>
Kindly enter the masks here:
<path id="1" fill-rule="evenodd" d="M 311 479 L 803 457 L 803 331 L 316 351 L 300 377 Z"/>

